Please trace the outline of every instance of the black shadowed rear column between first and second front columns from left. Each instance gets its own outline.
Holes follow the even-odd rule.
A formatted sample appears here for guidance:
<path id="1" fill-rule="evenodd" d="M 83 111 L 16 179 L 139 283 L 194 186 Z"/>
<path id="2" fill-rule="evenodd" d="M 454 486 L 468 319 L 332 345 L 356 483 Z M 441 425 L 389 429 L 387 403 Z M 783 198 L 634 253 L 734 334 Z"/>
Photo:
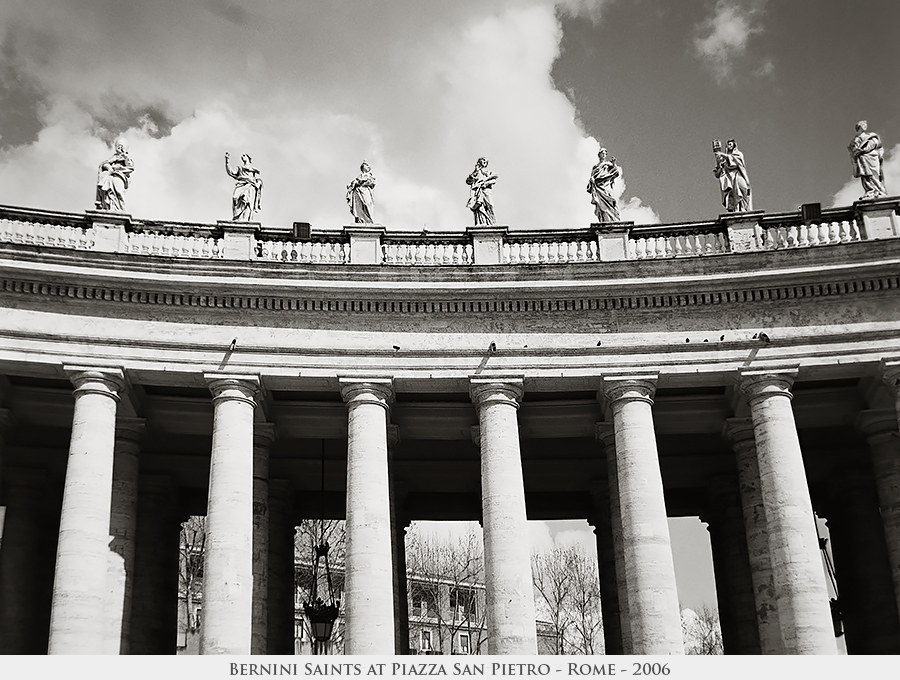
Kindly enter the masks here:
<path id="1" fill-rule="evenodd" d="M 138 476 L 131 654 L 174 654 L 181 524 L 167 475 Z"/>

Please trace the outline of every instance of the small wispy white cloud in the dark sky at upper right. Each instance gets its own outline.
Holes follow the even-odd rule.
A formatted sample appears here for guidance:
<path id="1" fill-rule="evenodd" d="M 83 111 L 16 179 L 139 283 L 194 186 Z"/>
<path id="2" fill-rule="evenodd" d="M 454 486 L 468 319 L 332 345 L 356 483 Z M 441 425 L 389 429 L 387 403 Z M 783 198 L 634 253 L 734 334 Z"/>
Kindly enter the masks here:
<path id="1" fill-rule="evenodd" d="M 720 85 L 733 83 L 737 61 L 746 54 L 751 37 L 762 33 L 763 5 L 764 0 L 749 4 L 718 0 L 712 16 L 698 26 L 698 35 L 694 38 L 695 53 Z M 774 62 L 768 59 L 755 74 L 769 75 L 774 68 Z"/>

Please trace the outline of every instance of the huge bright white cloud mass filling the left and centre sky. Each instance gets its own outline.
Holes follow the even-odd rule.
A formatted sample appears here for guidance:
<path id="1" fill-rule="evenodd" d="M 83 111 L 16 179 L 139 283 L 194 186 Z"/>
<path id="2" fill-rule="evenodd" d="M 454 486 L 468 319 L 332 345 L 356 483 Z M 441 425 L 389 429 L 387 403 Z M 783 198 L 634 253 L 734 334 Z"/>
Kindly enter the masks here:
<path id="1" fill-rule="evenodd" d="M 345 186 L 366 158 L 389 229 L 462 230 L 464 180 L 484 155 L 500 223 L 584 226 L 598 144 L 550 70 L 557 9 L 599 18 L 606 2 L 13 2 L 3 41 L 43 92 L 44 127 L 0 151 L 0 203 L 92 207 L 104 128 L 131 142 L 136 217 L 230 218 L 227 150 L 260 169 L 265 224 L 347 223 Z"/>

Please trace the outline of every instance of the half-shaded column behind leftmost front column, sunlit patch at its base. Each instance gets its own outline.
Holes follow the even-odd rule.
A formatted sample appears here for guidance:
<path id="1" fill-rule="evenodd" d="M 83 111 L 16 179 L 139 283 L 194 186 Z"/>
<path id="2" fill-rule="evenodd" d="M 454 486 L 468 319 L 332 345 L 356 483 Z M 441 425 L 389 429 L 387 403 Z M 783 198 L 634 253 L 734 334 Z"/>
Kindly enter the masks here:
<path id="1" fill-rule="evenodd" d="M 134 533 L 137 516 L 138 450 L 144 434 L 143 418 L 120 418 L 116 423 L 112 510 L 109 534 L 109 631 L 106 654 L 128 654 L 131 627 L 131 588 L 134 580 Z"/>

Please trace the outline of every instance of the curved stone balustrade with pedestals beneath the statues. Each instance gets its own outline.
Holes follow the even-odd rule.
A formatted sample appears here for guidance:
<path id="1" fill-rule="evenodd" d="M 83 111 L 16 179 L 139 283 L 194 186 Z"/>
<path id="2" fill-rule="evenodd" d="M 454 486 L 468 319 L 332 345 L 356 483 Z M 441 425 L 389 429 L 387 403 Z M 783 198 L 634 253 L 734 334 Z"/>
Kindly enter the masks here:
<path id="1" fill-rule="evenodd" d="M 812 208 L 815 208 L 814 210 Z M 219 222 L 132 220 L 0 206 L 0 243 L 130 255 L 264 260 L 300 264 L 468 266 L 655 260 L 811 248 L 900 238 L 900 200 L 848 208 L 815 204 L 785 213 L 740 213 L 714 221 L 635 226 L 592 225 L 563 231 L 388 232 L 381 225 L 294 234 L 285 227 Z"/>

